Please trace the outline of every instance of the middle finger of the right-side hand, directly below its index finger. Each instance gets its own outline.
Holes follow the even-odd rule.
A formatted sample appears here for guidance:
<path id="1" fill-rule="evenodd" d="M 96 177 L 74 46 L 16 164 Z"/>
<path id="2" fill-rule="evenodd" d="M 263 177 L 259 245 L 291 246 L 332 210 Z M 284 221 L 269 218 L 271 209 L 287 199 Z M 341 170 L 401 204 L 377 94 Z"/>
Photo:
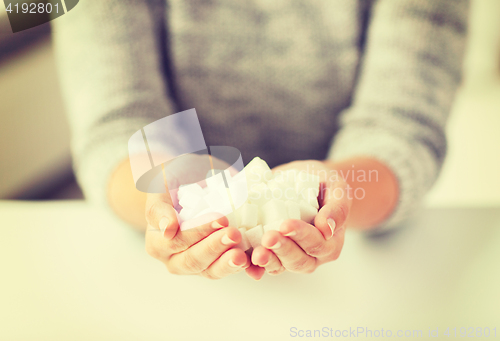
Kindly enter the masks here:
<path id="1" fill-rule="evenodd" d="M 316 269 L 316 258 L 306 254 L 293 240 L 278 231 L 266 232 L 262 237 L 262 246 L 272 250 L 288 271 L 311 273 Z"/>

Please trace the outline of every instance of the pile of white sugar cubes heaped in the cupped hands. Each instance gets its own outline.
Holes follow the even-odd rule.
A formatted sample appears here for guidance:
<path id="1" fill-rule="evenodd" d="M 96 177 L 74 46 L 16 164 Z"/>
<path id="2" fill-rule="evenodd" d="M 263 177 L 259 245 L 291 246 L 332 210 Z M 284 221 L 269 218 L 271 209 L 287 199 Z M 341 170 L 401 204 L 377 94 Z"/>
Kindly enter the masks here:
<path id="1" fill-rule="evenodd" d="M 259 246 L 264 232 L 279 230 L 285 219 L 311 223 L 318 213 L 317 175 L 298 170 L 273 174 L 258 157 L 234 176 L 228 170 L 209 172 L 205 182 L 205 187 L 194 183 L 179 188 L 181 222 L 212 212 L 225 215 L 229 226 L 240 230 L 237 247 L 245 251 Z"/>

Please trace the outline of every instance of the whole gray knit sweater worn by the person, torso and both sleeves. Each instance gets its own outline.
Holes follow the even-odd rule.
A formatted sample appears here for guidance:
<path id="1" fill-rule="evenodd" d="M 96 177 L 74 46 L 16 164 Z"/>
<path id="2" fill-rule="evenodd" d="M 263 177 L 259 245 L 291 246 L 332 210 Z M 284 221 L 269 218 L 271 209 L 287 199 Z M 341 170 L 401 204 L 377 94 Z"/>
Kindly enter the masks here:
<path id="1" fill-rule="evenodd" d="M 141 127 L 196 108 L 245 162 L 369 156 L 397 175 L 396 226 L 435 181 L 467 0 L 86 0 L 55 20 L 73 155 L 106 204 Z M 169 132 L 166 131 L 166 134 Z"/>

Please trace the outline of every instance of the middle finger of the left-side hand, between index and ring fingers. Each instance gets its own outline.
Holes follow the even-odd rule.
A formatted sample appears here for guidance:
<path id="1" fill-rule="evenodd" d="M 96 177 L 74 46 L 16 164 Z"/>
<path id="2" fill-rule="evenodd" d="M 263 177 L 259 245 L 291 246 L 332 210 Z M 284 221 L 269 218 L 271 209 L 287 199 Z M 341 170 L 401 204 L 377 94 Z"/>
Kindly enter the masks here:
<path id="1" fill-rule="evenodd" d="M 234 227 L 218 230 L 186 251 L 173 254 L 167 262 L 171 273 L 196 274 L 210 266 L 217 258 L 241 241 L 241 233 Z"/>

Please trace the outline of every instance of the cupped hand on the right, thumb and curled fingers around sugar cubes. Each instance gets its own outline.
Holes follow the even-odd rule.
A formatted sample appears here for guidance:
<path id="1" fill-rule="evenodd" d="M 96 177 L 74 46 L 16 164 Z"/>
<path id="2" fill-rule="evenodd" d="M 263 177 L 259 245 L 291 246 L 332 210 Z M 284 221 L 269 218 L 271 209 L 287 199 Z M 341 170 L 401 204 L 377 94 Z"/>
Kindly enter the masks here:
<path id="1" fill-rule="evenodd" d="M 316 268 L 340 256 L 344 245 L 345 223 L 352 204 L 347 182 L 326 163 L 316 160 L 294 161 L 273 171 L 304 170 L 320 177 L 320 210 L 313 224 L 288 219 L 280 231 L 267 231 L 262 246 L 254 249 L 252 263 L 271 275 L 285 270 L 312 273 Z M 250 270 L 250 269 L 248 269 Z M 261 272 L 263 275 L 263 271 Z"/>

